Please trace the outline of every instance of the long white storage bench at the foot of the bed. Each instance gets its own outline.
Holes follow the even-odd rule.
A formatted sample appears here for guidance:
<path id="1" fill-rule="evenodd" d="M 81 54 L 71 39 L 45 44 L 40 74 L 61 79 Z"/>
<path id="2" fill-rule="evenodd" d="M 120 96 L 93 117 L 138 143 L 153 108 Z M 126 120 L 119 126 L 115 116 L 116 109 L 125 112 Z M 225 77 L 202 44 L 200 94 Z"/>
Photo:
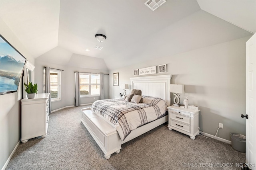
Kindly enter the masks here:
<path id="1" fill-rule="evenodd" d="M 109 159 L 112 153 L 120 152 L 121 140 L 116 128 L 94 113 L 91 107 L 82 109 L 81 121 L 104 152 L 106 159 Z"/>

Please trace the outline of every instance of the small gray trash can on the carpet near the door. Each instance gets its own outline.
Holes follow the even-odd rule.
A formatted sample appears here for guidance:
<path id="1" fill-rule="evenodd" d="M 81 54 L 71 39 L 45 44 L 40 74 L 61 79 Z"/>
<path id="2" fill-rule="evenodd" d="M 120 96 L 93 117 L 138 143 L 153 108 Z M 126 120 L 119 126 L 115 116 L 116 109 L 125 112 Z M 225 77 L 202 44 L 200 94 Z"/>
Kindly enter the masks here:
<path id="1" fill-rule="evenodd" d="M 230 133 L 232 148 L 239 152 L 245 152 L 245 136 L 238 133 Z"/>

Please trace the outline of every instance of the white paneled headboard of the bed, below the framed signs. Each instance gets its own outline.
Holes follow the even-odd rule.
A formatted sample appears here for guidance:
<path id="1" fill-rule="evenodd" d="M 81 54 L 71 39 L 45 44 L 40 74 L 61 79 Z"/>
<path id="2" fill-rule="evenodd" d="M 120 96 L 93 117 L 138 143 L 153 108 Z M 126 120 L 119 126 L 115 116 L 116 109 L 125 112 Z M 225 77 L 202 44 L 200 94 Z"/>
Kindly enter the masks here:
<path id="1" fill-rule="evenodd" d="M 171 104 L 170 84 L 172 75 L 131 77 L 131 89 L 139 89 L 143 96 L 162 98 L 168 106 Z"/>

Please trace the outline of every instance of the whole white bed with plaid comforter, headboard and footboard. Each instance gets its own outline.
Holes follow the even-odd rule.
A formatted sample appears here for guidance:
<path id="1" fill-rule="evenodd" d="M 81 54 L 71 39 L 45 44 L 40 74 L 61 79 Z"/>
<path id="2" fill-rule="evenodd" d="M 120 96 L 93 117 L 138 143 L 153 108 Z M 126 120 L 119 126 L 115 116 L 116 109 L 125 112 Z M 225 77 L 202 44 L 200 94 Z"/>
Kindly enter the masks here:
<path id="1" fill-rule="evenodd" d="M 130 78 L 131 89 L 140 89 L 142 91 L 143 99 L 145 99 L 143 103 L 137 104 L 138 106 L 132 104 L 131 102 L 125 102 L 122 99 L 112 99 L 100 100 L 94 103 L 93 107 L 82 109 L 81 121 L 86 129 L 90 132 L 100 149 L 104 152 L 106 159 L 110 158 L 111 154 L 114 152 L 119 153 L 123 143 L 126 143 L 168 121 L 168 115 L 162 113 L 162 109 L 160 109 L 160 113 L 158 109 L 156 109 L 158 106 L 152 104 L 152 100 L 154 100 L 153 103 L 157 104 L 162 103 L 159 101 L 164 100 L 166 106 L 170 106 L 169 88 L 171 77 L 172 76 L 169 74 Z M 111 102 L 115 102 L 115 104 L 113 105 Z M 125 121 L 122 121 L 123 123 L 120 123 L 116 118 L 111 117 L 111 111 L 119 111 L 120 114 L 118 115 L 120 116 L 126 110 L 124 107 L 128 107 L 128 105 L 135 107 L 135 112 L 137 115 L 139 114 L 139 117 L 146 112 L 148 113 L 148 111 L 150 112 L 151 116 L 147 115 L 146 117 L 148 120 L 142 120 L 142 125 L 132 125 L 132 121 L 127 123 L 126 119 Z M 154 111 L 150 111 L 149 105 L 153 106 L 155 113 L 153 113 Z M 109 106 L 115 107 L 111 108 L 110 110 L 106 110 L 106 108 Z M 121 110 L 118 110 L 118 107 L 120 107 Z M 162 105 L 160 107 L 162 107 Z M 138 111 L 138 108 L 142 108 L 146 111 L 143 111 L 142 113 L 141 111 Z M 156 119 L 153 120 L 153 117 Z M 138 121 L 138 119 L 135 119 L 135 121 L 136 120 Z M 124 129 L 122 126 L 124 126 Z M 122 131 L 124 133 L 121 133 Z"/>

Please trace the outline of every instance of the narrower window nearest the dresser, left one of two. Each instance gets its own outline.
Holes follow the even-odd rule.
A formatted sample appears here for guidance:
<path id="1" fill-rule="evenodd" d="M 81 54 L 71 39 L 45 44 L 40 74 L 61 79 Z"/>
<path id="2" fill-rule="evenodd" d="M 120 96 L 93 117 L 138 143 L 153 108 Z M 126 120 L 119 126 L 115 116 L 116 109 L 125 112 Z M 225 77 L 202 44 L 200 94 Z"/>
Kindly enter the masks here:
<path id="1" fill-rule="evenodd" d="M 51 99 L 60 100 L 60 70 L 50 69 Z"/>

